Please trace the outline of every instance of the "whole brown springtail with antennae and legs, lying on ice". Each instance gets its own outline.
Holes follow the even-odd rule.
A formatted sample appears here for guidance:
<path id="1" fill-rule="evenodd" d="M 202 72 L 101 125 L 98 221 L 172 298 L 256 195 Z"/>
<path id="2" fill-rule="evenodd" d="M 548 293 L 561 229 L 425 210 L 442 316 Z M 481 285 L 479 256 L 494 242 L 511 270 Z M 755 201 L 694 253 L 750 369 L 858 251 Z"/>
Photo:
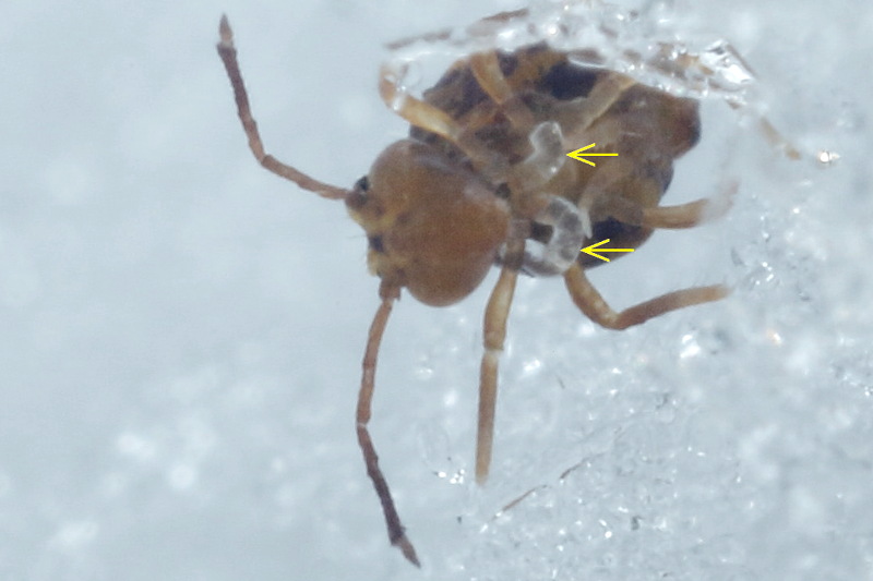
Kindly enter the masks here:
<path id="1" fill-rule="evenodd" d="M 517 11 L 487 21 L 524 15 Z M 707 199 L 659 205 L 673 160 L 698 140 L 696 101 L 545 44 L 475 52 L 451 66 L 422 98 L 409 95 L 397 71 L 386 66 L 381 96 L 411 124 L 410 135 L 390 145 L 366 178 L 344 190 L 264 152 L 226 19 L 219 32 L 218 52 L 255 157 L 306 190 L 344 199 L 367 232 L 368 263 L 381 278 L 382 302 L 364 351 L 357 433 L 388 537 L 411 562 L 418 565 L 418 557 L 367 427 L 379 346 L 402 289 L 426 304 L 446 305 L 475 290 L 492 265 L 500 266 L 483 325 L 476 450 L 480 484 L 491 463 L 498 362 L 519 271 L 563 276 L 579 310 L 612 329 L 727 293 L 721 286 L 682 289 L 615 312 L 584 274 L 584 267 L 600 262 L 579 252 L 607 238 L 617 246 L 636 247 L 656 228 L 687 228 L 711 217 Z M 565 155 L 589 143 L 619 157 L 593 168 Z"/>

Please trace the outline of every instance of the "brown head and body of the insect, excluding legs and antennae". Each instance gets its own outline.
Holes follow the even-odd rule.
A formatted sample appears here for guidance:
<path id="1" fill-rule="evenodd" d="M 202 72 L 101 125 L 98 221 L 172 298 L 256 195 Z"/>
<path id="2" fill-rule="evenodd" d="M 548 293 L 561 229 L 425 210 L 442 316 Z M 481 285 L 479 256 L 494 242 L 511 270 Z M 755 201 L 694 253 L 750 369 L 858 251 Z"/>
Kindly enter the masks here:
<path id="1" fill-rule="evenodd" d="M 639 225 L 642 216 L 621 221 L 610 209 L 626 201 L 639 214 L 638 208 L 660 203 L 672 178 L 673 160 L 699 138 L 697 101 L 632 83 L 588 125 L 584 117 L 574 114 L 581 101 L 605 78 L 626 77 L 574 64 L 565 52 L 545 44 L 500 52 L 498 59 L 509 86 L 534 113 L 534 123 L 557 120 L 564 142 L 597 143 L 599 150 L 621 152 L 620 159 L 596 168 L 563 162 L 557 175 L 541 185 L 541 192 L 587 209 L 590 227 L 583 245 L 606 239 L 617 247 L 642 244 L 653 231 Z M 481 88 L 467 59 L 456 62 L 426 90 L 423 101 L 459 125 L 476 128 L 475 136 L 507 167 L 531 153 L 530 128 L 519 131 L 512 125 Z M 368 192 L 356 187 L 349 210 L 376 242 L 370 247 L 371 271 L 408 288 L 421 302 L 441 306 L 478 287 L 486 264 L 492 263 L 504 242 L 509 213 L 501 203 L 501 191 L 506 184 L 483 180 L 474 161 L 438 134 L 412 126 L 410 140 L 392 145 L 380 156 L 370 171 Z M 476 203 L 468 203 L 470 196 Z M 396 204 L 387 203 L 387 197 L 396 198 Z M 396 209 L 386 210 L 388 206 Z M 633 217 L 633 211 L 626 214 Z M 548 242 L 543 238 L 551 229 L 537 228 L 534 216 L 529 218 L 529 238 Z M 587 267 L 603 264 L 588 254 L 577 256 Z"/>

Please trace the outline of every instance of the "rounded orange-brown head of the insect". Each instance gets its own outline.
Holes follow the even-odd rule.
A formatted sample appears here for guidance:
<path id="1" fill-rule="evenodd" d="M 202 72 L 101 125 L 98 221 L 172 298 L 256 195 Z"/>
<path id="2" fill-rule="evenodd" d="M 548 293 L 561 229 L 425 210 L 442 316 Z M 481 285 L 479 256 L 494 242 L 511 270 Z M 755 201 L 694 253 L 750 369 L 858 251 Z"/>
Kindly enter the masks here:
<path id="1" fill-rule="evenodd" d="M 479 286 L 510 219 L 491 184 L 416 140 L 388 146 L 346 205 L 370 241 L 370 270 L 433 306 Z"/>

